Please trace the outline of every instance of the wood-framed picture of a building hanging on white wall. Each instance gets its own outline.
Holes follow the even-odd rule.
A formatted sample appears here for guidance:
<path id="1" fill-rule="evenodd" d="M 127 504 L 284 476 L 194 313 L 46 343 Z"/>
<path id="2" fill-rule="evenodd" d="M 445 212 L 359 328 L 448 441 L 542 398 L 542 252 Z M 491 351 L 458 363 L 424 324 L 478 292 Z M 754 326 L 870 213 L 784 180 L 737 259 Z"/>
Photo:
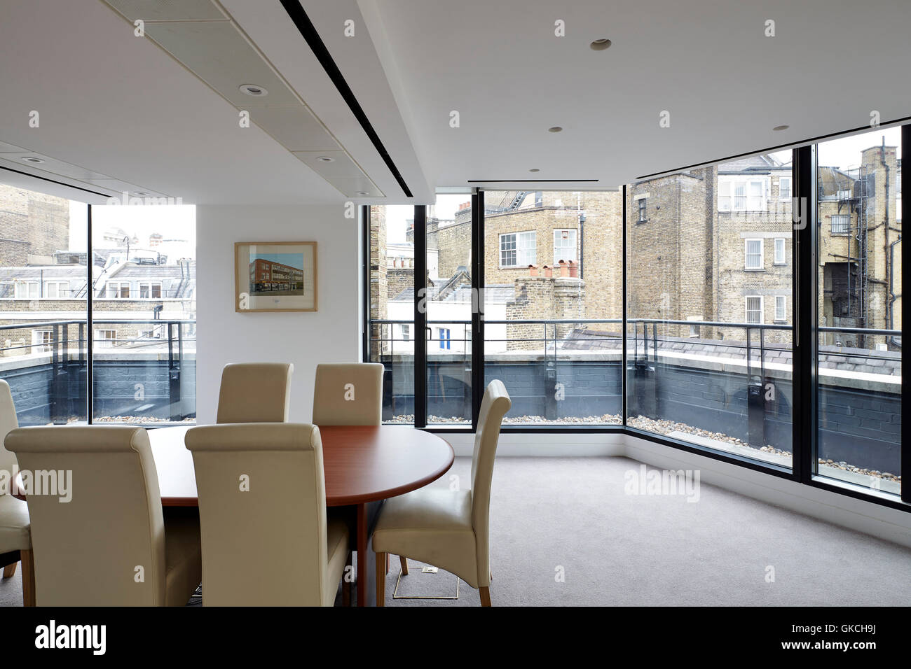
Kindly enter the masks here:
<path id="1" fill-rule="evenodd" d="M 235 311 L 315 311 L 315 241 L 234 244 Z"/>

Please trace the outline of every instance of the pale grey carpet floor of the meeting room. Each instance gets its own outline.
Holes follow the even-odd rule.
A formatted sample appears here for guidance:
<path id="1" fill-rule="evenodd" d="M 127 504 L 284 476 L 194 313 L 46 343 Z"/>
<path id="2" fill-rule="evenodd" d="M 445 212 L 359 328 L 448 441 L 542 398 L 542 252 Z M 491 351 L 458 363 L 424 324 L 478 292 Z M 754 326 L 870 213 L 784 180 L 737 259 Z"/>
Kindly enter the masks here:
<path id="1" fill-rule="evenodd" d="M 911 550 L 736 492 L 701 484 L 683 495 L 630 495 L 627 458 L 501 458 L 491 494 L 490 559 L 495 606 L 508 605 L 906 605 Z M 651 469 L 651 468 L 650 468 Z M 470 487 L 471 461 L 456 475 Z M 455 577 L 403 577 L 400 594 L 449 594 Z M 0 605 L 22 605 L 21 570 L 0 581 Z M 478 606 L 459 599 L 393 600 L 387 606 Z M 418 581 L 417 579 L 422 579 Z M 406 583 L 406 580 L 408 583 Z M 407 586 L 407 588 L 406 588 Z"/>

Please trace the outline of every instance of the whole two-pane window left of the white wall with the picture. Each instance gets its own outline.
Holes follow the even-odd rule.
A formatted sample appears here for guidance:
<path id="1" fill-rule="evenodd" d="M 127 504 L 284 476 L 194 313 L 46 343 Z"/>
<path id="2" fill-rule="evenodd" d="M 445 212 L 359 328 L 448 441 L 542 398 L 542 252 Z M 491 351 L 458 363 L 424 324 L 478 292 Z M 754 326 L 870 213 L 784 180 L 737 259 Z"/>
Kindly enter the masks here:
<path id="1" fill-rule="evenodd" d="M 195 209 L 0 185 L 0 219 L 0 379 L 19 423 L 195 421 Z"/>

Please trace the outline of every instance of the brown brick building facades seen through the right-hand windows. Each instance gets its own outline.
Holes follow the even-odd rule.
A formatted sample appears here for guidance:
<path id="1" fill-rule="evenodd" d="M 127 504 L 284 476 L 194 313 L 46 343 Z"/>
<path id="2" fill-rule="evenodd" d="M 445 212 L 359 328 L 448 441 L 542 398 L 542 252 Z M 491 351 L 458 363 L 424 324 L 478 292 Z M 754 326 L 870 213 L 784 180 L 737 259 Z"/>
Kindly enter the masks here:
<path id="1" fill-rule="evenodd" d="M 900 329 L 900 161 L 896 147 L 869 147 L 860 161 L 853 170 L 819 170 L 820 324 Z M 766 342 L 789 343 L 793 194 L 790 164 L 769 155 L 630 184 L 628 318 L 763 324 L 770 326 Z M 486 191 L 485 200 L 485 281 L 515 287 L 507 319 L 621 318 L 620 191 Z M 382 209 L 372 211 L 372 244 L 384 236 Z M 470 267 L 470 221 L 468 201 L 449 220 L 428 209 L 428 256 L 435 254 L 441 280 Z M 413 229 L 407 239 L 413 241 Z M 379 253 L 371 248 L 372 269 L 384 267 L 374 263 Z M 573 261 L 576 276 L 557 289 L 559 259 Z M 382 311 L 384 300 L 410 288 L 411 271 L 372 271 L 372 306 Z M 577 290 L 573 300 L 553 298 L 569 286 Z M 742 341 L 746 335 L 742 325 L 657 327 L 672 337 Z M 609 324 L 597 328 L 619 332 Z M 892 348 L 895 342 L 886 339 L 826 334 L 821 343 Z"/>

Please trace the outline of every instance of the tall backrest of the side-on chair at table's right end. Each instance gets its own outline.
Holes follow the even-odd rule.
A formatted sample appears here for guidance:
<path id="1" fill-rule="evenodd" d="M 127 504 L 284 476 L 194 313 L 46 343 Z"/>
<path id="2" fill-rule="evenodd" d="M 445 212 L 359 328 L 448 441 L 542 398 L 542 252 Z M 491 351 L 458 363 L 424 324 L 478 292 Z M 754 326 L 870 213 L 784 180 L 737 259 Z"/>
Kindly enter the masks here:
<path id="1" fill-rule="evenodd" d="M 471 522 L 475 530 L 477 579 L 481 586 L 490 584 L 490 485 L 494 476 L 496 442 L 503 417 L 511 406 L 512 400 L 503 381 L 490 381 L 481 400 L 475 451 L 471 458 Z"/>

